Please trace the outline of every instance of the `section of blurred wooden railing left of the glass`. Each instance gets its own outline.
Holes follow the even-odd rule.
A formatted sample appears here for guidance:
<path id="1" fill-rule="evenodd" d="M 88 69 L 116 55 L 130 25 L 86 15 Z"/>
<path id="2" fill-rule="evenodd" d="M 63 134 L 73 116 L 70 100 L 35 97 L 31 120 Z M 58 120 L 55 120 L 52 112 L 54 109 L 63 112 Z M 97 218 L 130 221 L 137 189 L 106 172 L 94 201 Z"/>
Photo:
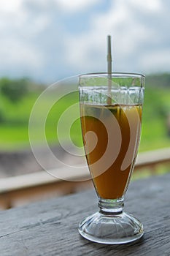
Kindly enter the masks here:
<path id="1" fill-rule="evenodd" d="M 52 173 L 53 176 L 50 174 Z M 91 187 L 88 167 L 77 171 L 77 168 L 60 168 L 29 173 L 0 179 L 0 206 L 11 208 L 18 204 L 49 198 L 54 195 L 61 196 L 77 192 L 80 188 Z M 62 174 L 62 175 L 61 175 Z M 57 178 L 63 177 L 64 180 Z M 75 181 L 74 181 L 75 180 Z M 82 182 L 77 182 L 77 181 Z"/>

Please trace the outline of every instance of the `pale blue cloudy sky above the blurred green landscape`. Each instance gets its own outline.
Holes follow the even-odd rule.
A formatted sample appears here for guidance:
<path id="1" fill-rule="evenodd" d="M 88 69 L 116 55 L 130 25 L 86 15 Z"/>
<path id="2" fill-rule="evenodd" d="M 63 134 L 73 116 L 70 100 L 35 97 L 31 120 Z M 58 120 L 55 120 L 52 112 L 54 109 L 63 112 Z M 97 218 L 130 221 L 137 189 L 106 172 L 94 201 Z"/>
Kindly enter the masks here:
<path id="1" fill-rule="evenodd" d="M 43 83 L 107 71 L 170 72 L 170 1 L 1 0 L 0 77 Z"/>

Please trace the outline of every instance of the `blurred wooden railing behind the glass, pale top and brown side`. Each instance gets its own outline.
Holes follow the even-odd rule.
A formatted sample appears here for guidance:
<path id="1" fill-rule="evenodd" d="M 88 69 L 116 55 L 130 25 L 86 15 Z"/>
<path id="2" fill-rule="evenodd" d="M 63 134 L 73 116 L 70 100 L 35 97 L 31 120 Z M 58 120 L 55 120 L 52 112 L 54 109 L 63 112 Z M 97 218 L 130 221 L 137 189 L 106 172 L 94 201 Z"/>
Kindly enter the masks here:
<path id="1" fill-rule="evenodd" d="M 136 160 L 134 170 L 150 167 L 152 172 L 155 165 L 170 163 L 170 148 L 162 148 L 155 151 L 140 153 Z M 88 167 L 77 171 L 77 168 L 58 168 L 51 170 L 53 176 L 44 171 L 27 173 L 25 175 L 0 179 L 0 205 L 1 208 L 10 208 L 29 202 L 31 200 L 50 197 L 51 195 L 66 195 L 76 192 L 81 186 L 90 186 L 90 173 Z M 61 180 L 57 177 L 62 177 Z M 69 181 L 83 181 L 82 184 Z M 42 193 L 43 191 L 43 193 Z"/>

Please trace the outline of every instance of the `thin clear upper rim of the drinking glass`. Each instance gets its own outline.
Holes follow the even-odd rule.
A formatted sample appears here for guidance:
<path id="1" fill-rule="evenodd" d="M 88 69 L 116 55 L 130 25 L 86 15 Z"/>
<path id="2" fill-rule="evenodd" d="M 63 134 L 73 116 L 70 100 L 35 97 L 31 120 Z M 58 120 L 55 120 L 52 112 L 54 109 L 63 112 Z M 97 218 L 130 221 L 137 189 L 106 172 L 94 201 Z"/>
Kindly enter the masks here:
<path id="1" fill-rule="evenodd" d="M 97 78 L 103 77 L 108 78 L 111 75 L 111 78 L 145 78 L 145 75 L 140 73 L 131 73 L 131 72 L 94 72 L 94 73 L 85 73 L 79 75 L 79 78 Z"/>

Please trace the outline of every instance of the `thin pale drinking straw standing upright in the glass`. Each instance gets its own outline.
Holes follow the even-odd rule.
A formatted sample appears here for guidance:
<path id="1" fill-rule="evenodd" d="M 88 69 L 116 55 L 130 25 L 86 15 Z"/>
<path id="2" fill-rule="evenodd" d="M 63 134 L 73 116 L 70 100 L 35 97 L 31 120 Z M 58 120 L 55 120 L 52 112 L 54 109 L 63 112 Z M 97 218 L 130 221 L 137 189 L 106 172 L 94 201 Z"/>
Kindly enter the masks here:
<path id="1" fill-rule="evenodd" d="M 107 105 L 112 104 L 111 87 L 112 87 L 112 53 L 111 53 L 111 36 L 107 36 L 107 73 L 108 73 L 108 94 Z"/>

